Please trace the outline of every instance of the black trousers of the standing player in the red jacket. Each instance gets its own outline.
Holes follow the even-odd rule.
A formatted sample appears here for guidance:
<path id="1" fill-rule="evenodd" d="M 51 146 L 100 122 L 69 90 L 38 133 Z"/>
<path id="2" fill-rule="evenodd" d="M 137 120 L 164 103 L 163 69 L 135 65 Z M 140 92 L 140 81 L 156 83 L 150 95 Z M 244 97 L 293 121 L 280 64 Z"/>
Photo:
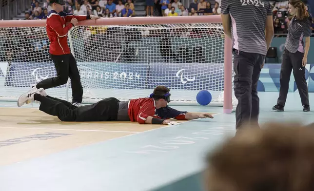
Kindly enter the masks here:
<path id="1" fill-rule="evenodd" d="M 82 102 L 83 97 L 83 88 L 80 82 L 80 76 L 78 72 L 78 66 L 75 58 L 72 54 L 68 55 L 51 55 L 50 57 L 55 64 L 57 71 L 56 77 L 51 77 L 40 81 L 36 87 L 49 89 L 57 87 L 63 84 L 66 84 L 68 78 L 71 79 L 71 88 L 72 88 L 72 103 Z"/>

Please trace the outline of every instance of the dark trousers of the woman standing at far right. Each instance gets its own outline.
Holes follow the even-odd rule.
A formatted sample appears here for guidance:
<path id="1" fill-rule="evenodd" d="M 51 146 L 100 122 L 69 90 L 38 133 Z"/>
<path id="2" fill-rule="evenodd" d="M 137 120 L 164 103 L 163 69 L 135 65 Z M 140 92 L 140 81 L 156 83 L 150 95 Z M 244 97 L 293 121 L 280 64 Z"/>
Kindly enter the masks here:
<path id="1" fill-rule="evenodd" d="M 280 89 L 277 100 L 278 105 L 285 106 L 289 90 L 289 81 L 292 69 L 294 70 L 294 80 L 301 97 L 302 105 L 310 105 L 308 85 L 305 79 L 305 67 L 302 67 L 304 53 L 296 51 L 291 53 L 287 49 L 283 51 L 280 70 Z"/>

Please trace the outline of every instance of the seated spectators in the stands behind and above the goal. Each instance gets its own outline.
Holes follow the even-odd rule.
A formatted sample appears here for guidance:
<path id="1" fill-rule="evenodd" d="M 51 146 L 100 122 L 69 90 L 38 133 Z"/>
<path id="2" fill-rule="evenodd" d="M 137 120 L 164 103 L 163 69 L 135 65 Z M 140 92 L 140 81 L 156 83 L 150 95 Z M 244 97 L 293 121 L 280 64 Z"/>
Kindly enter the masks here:
<path id="1" fill-rule="evenodd" d="M 31 3 L 31 11 L 25 13 L 25 19 L 46 19 L 52 10 L 49 0 L 39 6 L 37 0 Z M 274 13 L 275 34 L 285 34 L 289 26 L 288 0 L 271 1 Z M 133 0 L 66 0 L 64 11 L 77 15 L 96 15 L 104 18 L 136 16 Z M 220 0 L 213 5 L 210 1 L 194 0 L 189 7 L 182 5 L 180 0 L 146 0 L 146 16 L 196 16 L 220 15 Z M 314 18 L 310 18 L 314 32 Z M 284 35 L 276 35 L 282 37 Z"/>

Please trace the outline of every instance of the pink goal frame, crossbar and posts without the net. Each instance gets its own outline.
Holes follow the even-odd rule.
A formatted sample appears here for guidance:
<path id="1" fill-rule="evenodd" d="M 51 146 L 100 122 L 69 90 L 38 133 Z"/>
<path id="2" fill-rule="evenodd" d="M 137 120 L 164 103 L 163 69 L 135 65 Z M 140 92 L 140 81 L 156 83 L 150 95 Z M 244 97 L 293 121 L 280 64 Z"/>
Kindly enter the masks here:
<path id="1" fill-rule="evenodd" d="M 180 17 L 131 17 L 131 18 L 102 18 L 97 20 L 84 20 L 78 26 L 108 26 L 108 25 L 144 25 L 144 24 L 193 24 L 193 23 L 221 23 L 222 19 L 217 16 L 180 16 Z M 46 20 L 0 20 L 0 28 L 8 27 L 45 27 Z M 224 37 L 224 91 L 223 113 L 233 112 L 232 103 L 232 39 Z M 70 47 L 72 44 L 69 35 Z M 73 48 L 71 48 L 73 51 Z M 74 52 L 73 52 L 74 54 Z M 74 55 L 75 56 L 75 55 Z M 68 97 L 68 86 L 66 95 Z"/>

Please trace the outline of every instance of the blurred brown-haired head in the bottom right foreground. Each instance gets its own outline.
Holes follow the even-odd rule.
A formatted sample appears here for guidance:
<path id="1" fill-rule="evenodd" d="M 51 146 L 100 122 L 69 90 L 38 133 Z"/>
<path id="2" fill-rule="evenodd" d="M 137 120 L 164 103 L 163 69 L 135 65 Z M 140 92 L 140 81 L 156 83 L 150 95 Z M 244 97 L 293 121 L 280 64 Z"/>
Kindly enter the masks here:
<path id="1" fill-rule="evenodd" d="M 314 191 L 314 130 L 246 129 L 207 158 L 207 191 Z"/>

